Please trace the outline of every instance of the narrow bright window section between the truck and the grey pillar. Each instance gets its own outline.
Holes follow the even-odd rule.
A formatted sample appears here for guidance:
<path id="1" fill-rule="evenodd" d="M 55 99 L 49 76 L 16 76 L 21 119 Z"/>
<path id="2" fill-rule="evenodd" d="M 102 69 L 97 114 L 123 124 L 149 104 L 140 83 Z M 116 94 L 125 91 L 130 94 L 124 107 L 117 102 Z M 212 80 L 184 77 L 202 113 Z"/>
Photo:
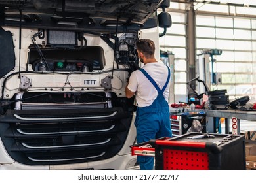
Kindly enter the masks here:
<path id="1" fill-rule="evenodd" d="M 172 7 L 173 8 L 173 7 Z M 174 102 L 186 101 L 186 78 L 187 78 L 187 43 L 186 43 L 186 14 L 169 12 L 172 26 L 167 29 L 166 35 L 160 37 L 160 50 L 174 54 Z M 159 29 L 160 33 L 163 29 Z"/>

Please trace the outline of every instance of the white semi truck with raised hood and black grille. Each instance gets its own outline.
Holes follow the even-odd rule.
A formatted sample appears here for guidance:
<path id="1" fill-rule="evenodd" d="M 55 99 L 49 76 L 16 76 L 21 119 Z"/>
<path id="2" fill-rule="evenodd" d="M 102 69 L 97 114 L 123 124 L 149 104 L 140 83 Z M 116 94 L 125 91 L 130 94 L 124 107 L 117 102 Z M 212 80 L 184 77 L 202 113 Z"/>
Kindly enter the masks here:
<path id="1" fill-rule="evenodd" d="M 137 169 L 125 85 L 168 4 L 1 0 L 0 169 Z"/>

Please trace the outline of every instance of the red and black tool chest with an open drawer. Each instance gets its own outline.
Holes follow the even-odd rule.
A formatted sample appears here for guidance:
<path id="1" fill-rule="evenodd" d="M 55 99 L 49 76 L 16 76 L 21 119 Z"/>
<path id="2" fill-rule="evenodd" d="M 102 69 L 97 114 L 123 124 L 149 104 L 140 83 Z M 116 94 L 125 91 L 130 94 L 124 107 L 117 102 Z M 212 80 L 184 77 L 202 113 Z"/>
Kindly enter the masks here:
<path id="1" fill-rule="evenodd" d="M 132 154 L 155 156 L 157 170 L 245 169 L 243 135 L 187 133 L 137 144 Z"/>

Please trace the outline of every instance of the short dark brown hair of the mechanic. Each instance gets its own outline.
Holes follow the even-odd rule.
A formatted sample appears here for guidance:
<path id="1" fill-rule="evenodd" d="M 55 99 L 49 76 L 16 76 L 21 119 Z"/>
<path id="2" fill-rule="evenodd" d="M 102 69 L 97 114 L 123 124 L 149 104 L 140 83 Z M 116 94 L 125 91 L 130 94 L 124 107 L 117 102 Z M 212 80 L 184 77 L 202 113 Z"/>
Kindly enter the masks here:
<path id="1" fill-rule="evenodd" d="M 155 54 L 155 44 L 150 39 L 139 39 L 136 43 L 137 50 L 142 52 L 146 57 L 150 58 Z"/>

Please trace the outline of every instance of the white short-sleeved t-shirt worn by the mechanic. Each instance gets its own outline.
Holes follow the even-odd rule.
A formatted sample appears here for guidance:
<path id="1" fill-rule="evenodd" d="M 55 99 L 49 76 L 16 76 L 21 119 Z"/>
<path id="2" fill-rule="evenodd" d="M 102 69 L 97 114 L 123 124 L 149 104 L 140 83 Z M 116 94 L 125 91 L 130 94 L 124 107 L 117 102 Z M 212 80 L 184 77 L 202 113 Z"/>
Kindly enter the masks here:
<path id="1" fill-rule="evenodd" d="M 142 68 L 153 78 L 161 90 L 168 77 L 168 69 L 166 65 L 164 65 L 161 61 L 158 61 L 147 63 Z M 166 101 L 168 101 L 169 97 L 170 81 L 171 79 L 163 92 L 163 96 L 165 97 Z M 138 107 L 150 106 L 158 96 L 158 90 L 156 90 L 150 80 L 148 80 L 148 78 L 146 78 L 146 76 L 139 70 L 131 73 L 128 89 L 132 92 L 136 92 L 136 101 Z"/>

